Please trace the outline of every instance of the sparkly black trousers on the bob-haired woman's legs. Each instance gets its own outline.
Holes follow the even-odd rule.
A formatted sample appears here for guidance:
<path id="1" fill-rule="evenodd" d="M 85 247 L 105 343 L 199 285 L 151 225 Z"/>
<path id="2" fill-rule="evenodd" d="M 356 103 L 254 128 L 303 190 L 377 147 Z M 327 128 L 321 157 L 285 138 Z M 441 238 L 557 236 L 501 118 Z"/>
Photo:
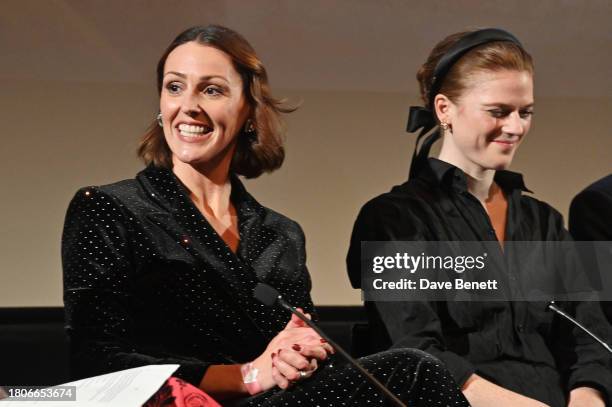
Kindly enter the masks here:
<path id="1" fill-rule="evenodd" d="M 393 349 L 359 361 L 409 407 L 469 406 L 444 365 L 425 352 Z M 227 405 L 371 407 L 392 404 L 357 369 L 332 361 L 287 390 L 275 388 Z"/>

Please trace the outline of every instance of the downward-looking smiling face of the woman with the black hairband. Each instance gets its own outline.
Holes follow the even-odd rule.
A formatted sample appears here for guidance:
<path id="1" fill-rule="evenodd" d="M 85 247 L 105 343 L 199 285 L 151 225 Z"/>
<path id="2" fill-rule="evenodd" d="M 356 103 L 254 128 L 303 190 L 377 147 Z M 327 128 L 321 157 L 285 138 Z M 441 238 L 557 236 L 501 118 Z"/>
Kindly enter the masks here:
<path id="1" fill-rule="evenodd" d="M 533 79 L 530 72 L 500 70 L 473 75 L 473 82 L 452 101 L 436 95 L 434 106 L 445 123 L 440 160 L 474 178 L 488 169 L 510 166 L 531 126 Z"/>

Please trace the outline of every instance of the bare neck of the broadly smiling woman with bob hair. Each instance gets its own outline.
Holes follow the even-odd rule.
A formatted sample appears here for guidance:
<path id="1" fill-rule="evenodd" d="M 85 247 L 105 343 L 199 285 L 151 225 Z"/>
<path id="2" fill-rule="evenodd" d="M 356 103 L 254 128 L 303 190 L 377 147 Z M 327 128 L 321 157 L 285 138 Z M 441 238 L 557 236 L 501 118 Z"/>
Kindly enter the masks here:
<path id="1" fill-rule="evenodd" d="M 230 213 L 229 169 L 235 147 L 235 144 L 228 146 L 230 151 L 220 159 L 204 163 L 184 163 L 172 157 L 172 172 L 185 185 L 196 207 L 216 218 L 224 218 Z"/>

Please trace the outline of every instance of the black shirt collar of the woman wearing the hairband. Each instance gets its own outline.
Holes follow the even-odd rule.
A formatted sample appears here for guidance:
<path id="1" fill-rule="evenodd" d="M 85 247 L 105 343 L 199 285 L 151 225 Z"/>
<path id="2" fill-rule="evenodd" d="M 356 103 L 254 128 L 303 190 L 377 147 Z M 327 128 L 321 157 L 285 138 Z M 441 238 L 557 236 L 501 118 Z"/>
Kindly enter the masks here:
<path id="1" fill-rule="evenodd" d="M 431 173 L 440 184 L 450 185 L 461 192 L 467 191 L 467 177 L 460 168 L 433 157 L 429 158 L 428 164 Z M 532 193 L 525 186 L 523 175 L 518 172 L 497 170 L 494 180 L 504 192 L 518 189 Z"/>

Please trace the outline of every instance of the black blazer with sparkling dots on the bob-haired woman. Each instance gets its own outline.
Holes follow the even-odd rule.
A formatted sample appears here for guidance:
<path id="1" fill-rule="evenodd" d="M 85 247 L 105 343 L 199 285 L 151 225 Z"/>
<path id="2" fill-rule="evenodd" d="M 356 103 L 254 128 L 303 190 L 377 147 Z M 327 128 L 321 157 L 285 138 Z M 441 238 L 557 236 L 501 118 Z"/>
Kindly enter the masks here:
<path id="1" fill-rule="evenodd" d="M 257 357 L 289 315 L 254 300 L 258 281 L 312 312 L 304 235 L 232 178 L 234 254 L 167 169 L 79 190 L 62 238 L 73 376 L 178 363 L 195 385 L 211 364 Z"/>

